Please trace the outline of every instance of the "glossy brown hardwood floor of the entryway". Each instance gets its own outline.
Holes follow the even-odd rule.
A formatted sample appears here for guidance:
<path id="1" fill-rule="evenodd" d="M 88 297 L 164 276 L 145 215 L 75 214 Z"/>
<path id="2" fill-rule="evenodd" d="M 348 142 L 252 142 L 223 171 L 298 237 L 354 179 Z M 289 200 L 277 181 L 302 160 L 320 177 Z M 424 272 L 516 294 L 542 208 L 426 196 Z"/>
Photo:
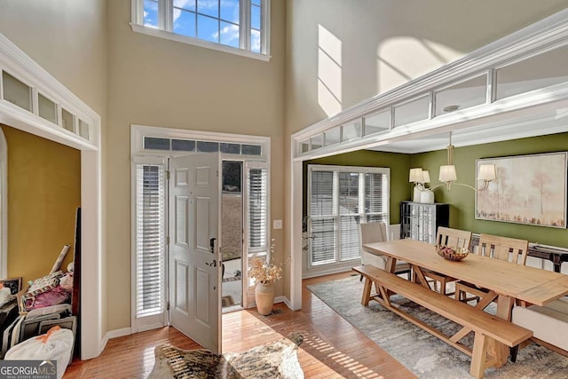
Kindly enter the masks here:
<path id="1" fill-rule="evenodd" d="M 351 272 L 304 280 L 303 309 L 298 312 L 276 304 L 274 312 L 266 317 L 256 309 L 225 313 L 223 350 L 246 351 L 295 331 L 304 335 L 298 357 L 307 378 L 414 378 L 396 359 L 305 288 L 348 275 Z M 110 340 L 98 358 L 74 361 L 63 377 L 146 378 L 154 367 L 154 346 L 162 342 L 182 349 L 201 348 L 175 328 L 151 330 Z"/>

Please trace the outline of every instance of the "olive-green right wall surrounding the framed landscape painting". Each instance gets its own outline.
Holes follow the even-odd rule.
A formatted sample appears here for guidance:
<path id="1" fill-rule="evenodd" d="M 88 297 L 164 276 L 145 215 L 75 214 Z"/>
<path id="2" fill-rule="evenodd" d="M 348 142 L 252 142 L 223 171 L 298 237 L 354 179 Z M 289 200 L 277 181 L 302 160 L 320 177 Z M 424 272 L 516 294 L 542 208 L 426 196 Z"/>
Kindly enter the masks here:
<path id="1" fill-rule="evenodd" d="M 568 150 L 568 133 L 454 148 L 458 182 L 475 186 L 476 160 L 503 156 L 554 153 Z M 413 154 L 411 167 L 430 171 L 430 186 L 438 185 L 439 166 L 446 164 L 446 150 Z M 527 184 L 530 186 L 530 184 Z M 562 191 L 561 188 L 558 189 Z M 450 227 L 473 233 L 490 233 L 568 248 L 568 231 L 546 226 L 521 225 L 475 218 L 475 192 L 464 186 L 446 186 L 434 190 L 436 202 L 450 204 Z"/>

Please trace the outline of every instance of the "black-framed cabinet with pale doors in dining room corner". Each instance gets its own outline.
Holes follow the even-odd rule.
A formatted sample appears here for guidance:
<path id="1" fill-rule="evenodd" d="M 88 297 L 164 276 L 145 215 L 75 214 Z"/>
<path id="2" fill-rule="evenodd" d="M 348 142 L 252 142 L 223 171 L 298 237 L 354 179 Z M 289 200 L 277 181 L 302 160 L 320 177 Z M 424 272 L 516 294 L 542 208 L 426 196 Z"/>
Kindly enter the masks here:
<path id="1" fill-rule="evenodd" d="M 438 226 L 449 226 L 450 204 L 400 202 L 400 238 L 436 243 Z"/>

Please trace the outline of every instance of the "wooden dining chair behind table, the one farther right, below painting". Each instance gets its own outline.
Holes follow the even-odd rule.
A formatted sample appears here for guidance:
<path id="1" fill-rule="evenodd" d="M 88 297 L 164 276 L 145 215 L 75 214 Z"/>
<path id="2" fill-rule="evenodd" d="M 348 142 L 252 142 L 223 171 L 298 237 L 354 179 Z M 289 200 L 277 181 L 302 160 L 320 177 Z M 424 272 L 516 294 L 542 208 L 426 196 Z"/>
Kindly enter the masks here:
<path id="1" fill-rule="evenodd" d="M 525 265 L 528 249 L 529 242 L 526 240 L 481 234 L 476 253 L 484 257 L 501 259 L 511 264 Z M 486 292 L 485 288 L 478 288 L 464 281 L 455 283 L 455 298 L 461 302 L 479 301 L 479 298 L 485 296 Z M 467 297 L 467 294 L 471 294 L 473 297 Z"/>

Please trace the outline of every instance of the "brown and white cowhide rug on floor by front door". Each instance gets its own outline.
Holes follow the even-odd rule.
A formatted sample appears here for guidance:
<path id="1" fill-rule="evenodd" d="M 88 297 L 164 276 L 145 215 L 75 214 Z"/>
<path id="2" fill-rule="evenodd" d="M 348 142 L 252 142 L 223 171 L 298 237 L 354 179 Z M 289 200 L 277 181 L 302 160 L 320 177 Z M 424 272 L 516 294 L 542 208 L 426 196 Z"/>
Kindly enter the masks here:
<path id="1" fill-rule="evenodd" d="M 304 337 L 291 333 L 274 343 L 241 353 L 217 355 L 209 350 L 183 350 L 169 343 L 155 347 L 154 369 L 148 379 L 226 378 L 303 379 L 297 349 Z"/>

